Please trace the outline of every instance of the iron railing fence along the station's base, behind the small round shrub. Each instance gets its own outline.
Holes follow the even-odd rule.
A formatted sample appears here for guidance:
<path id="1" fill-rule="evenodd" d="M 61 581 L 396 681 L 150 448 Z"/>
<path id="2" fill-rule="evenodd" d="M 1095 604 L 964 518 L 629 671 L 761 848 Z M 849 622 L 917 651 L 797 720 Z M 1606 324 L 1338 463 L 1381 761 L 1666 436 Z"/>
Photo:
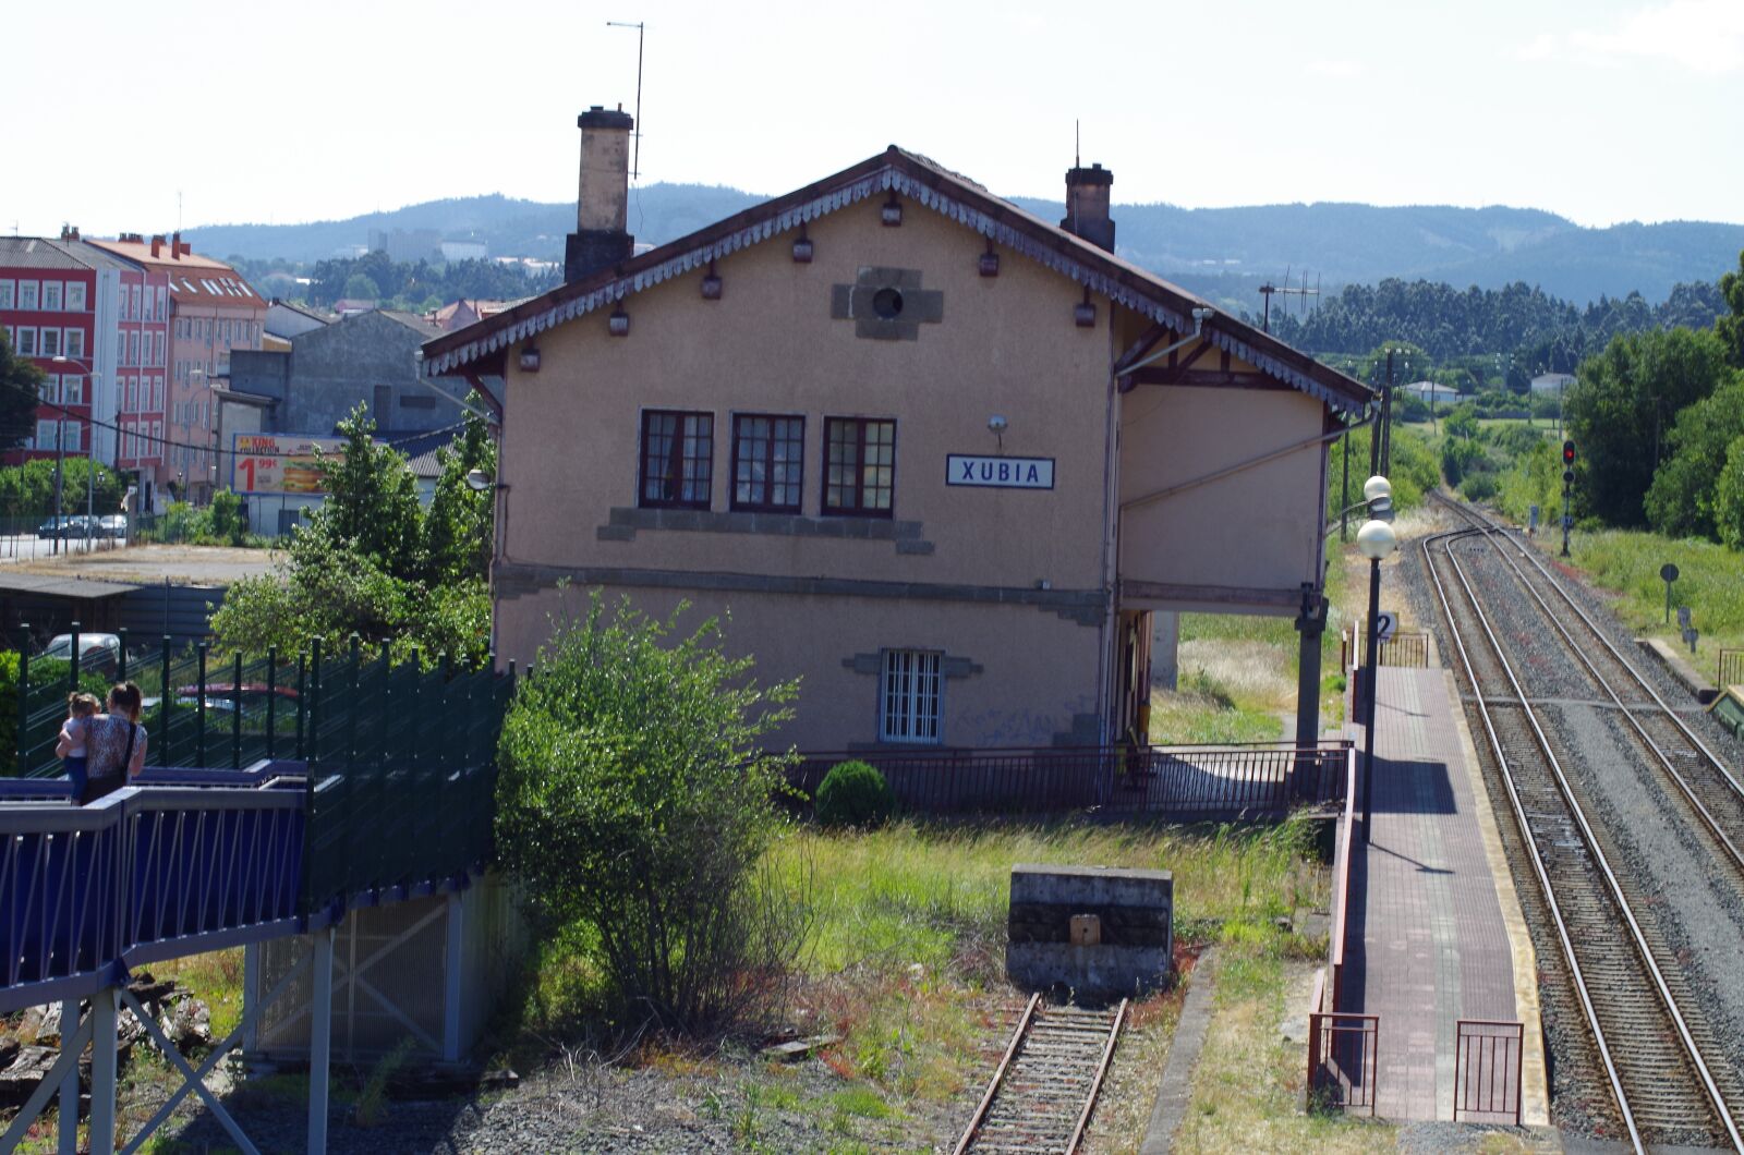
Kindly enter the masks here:
<path id="1" fill-rule="evenodd" d="M 1177 818 L 1284 815 L 1345 796 L 1348 742 L 1298 748 L 1043 747 L 807 754 L 790 783 L 807 797 L 837 762 L 863 761 L 910 813 L 1048 813 L 1100 808 Z"/>

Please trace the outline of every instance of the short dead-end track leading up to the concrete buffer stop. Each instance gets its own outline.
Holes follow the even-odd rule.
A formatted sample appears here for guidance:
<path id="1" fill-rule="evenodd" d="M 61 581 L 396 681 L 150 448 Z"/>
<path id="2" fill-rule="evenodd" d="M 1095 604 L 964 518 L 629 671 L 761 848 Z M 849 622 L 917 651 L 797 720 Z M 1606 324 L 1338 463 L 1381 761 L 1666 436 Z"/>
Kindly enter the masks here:
<path id="1" fill-rule="evenodd" d="M 1032 994 L 952 1155 L 1076 1152 L 1125 1019 L 1127 1000 L 1114 1010 L 1085 1010 Z"/>

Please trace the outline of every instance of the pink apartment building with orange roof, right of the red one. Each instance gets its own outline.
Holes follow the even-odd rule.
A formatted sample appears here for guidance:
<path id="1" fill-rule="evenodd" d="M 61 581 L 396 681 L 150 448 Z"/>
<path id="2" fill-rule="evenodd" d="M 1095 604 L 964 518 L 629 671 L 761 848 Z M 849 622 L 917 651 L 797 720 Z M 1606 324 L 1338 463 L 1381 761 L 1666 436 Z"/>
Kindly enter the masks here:
<path id="1" fill-rule="evenodd" d="M 180 232 L 167 239 L 122 234 L 91 244 L 167 279 L 167 445 L 160 476 L 176 495 L 209 501 L 225 473 L 213 445 L 218 420 L 213 384 L 230 375 L 232 349 L 262 347 L 267 300 L 225 262 L 194 253 Z"/>

